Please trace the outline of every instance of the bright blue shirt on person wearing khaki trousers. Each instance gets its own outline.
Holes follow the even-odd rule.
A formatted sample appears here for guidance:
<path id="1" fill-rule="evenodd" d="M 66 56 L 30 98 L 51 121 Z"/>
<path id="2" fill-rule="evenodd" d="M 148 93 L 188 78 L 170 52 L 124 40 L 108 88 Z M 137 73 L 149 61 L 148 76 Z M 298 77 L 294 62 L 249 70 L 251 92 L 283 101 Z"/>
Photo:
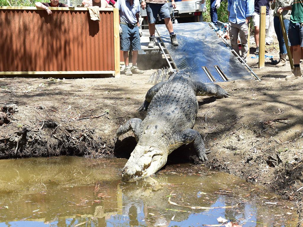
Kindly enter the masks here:
<path id="1" fill-rule="evenodd" d="M 234 24 L 241 24 L 251 17 L 255 11 L 254 0 L 228 0 L 228 20 Z"/>

